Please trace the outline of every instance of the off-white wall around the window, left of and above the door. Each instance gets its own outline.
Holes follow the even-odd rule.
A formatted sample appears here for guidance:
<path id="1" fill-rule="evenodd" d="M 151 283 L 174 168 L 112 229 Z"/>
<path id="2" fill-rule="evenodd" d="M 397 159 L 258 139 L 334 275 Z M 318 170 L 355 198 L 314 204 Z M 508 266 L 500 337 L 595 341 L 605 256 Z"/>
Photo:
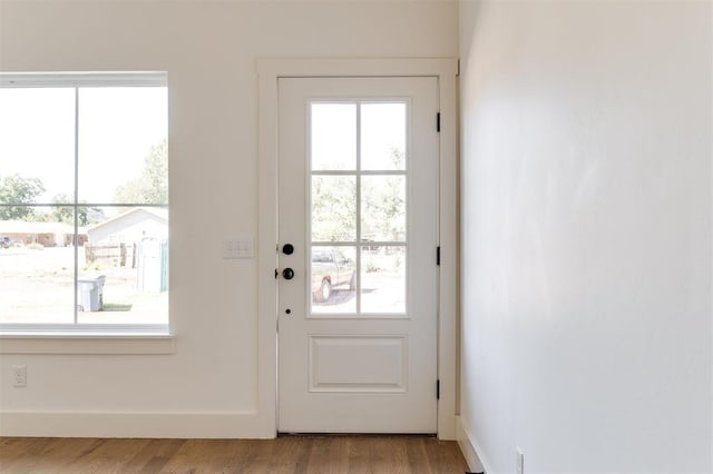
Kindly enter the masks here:
<path id="1" fill-rule="evenodd" d="M 221 259 L 224 237 L 257 238 L 255 60 L 455 57 L 457 10 L 429 1 L 1 1 L 2 71 L 168 71 L 177 337 L 173 355 L 2 356 L 0 433 L 270 435 L 274 426 L 248 416 L 257 405 L 255 260 Z M 13 364 L 28 366 L 27 388 L 11 387 Z"/>

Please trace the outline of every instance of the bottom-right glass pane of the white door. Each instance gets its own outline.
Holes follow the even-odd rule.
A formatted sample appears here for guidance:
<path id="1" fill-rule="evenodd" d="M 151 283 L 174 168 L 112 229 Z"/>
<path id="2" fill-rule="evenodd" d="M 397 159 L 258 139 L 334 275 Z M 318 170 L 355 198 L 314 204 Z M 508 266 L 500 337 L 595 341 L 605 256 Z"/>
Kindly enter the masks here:
<path id="1" fill-rule="evenodd" d="M 406 313 L 406 247 L 362 247 L 362 313 Z"/>

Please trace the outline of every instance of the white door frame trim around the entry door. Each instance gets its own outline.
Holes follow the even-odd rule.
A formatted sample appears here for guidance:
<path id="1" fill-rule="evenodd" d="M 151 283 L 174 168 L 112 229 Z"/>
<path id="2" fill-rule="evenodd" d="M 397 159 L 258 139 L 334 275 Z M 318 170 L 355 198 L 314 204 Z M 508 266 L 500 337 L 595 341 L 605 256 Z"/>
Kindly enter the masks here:
<path id="1" fill-rule="evenodd" d="M 277 434 L 277 79 L 281 77 L 438 78 L 440 105 L 438 436 L 456 438 L 457 136 L 456 59 L 258 59 L 257 394 L 256 437 Z M 433 118 L 436 126 L 436 118 Z M 436 258 L 436 255 L 433 255 Z"/>

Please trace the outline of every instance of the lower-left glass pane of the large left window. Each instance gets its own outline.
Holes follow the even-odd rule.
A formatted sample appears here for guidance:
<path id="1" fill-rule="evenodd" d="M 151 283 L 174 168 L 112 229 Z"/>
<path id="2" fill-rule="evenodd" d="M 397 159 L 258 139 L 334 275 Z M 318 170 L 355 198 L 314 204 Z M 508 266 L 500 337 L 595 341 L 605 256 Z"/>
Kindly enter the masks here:
<path id="1" fill-rule="evenodd" d="M 0 221 L 0 323 L 71 324 L 75 312 L 70 207 L 37 209 L 46 221 Z"/>

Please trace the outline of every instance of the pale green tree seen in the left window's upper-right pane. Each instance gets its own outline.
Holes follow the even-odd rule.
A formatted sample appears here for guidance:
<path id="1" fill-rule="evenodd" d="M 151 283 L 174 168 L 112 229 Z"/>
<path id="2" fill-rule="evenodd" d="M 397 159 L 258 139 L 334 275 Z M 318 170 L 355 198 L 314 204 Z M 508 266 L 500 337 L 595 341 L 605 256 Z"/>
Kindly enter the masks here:
<path id="1" fill-rule="evenodd" d="M 116 203 L 167 204 L 168 203 L 168 141 L 152 147 L 144 158 L 141 175 L 114 192 Z"/>

